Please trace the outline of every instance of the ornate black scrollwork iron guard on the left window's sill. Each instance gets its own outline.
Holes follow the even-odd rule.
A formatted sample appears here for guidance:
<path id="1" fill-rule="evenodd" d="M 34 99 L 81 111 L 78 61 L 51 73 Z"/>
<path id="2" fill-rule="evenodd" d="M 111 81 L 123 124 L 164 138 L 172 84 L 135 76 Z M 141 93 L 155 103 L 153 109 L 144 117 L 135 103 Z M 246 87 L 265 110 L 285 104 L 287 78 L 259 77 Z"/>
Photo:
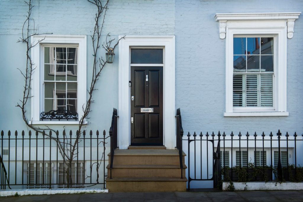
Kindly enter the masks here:
<path id="1" fill-rule="evenodd" d="M 77 112 L 72 112 L 68 110 L 51 110 L 48 112 L 41 112 L 41 121 L 45 119 L 49 119 L 52 121 L 53 119 L 60 121 L 61 119 L 63 120 L 78 120 L 78 113 Z"/>

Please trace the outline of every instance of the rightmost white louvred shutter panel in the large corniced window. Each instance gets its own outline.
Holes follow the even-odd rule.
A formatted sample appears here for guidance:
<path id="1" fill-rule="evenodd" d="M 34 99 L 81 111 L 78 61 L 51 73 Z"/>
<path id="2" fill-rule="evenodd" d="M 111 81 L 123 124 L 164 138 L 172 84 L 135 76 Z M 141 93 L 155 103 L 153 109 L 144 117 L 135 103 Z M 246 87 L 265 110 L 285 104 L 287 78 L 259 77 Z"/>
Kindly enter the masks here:
<path id="1" fill-rule="evenodd" d="M 261 74 L 261 107 L 273 106 L 273 79 L 272 74 Z"/>

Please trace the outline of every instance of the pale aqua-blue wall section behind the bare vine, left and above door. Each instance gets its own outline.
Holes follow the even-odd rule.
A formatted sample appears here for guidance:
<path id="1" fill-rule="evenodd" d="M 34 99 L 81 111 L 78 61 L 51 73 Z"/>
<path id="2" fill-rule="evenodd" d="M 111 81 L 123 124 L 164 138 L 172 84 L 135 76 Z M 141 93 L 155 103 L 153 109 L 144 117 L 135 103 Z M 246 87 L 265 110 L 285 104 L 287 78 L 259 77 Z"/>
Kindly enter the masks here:
<path id="1" fill-rule="evenodd" d="M 92 41 L 90 35 L 95 25 L 96 9 L 86 0 L 33 0 L 32 18 L 39 25 L 39 33 L 55 35 L 88 35 L 87 37 L 87 85 L 92 78 Z M 103 35 L 111 33 L 112 38 L 118 35 L 174 35 L 175 4 L 167 0 L 113 0 L 108 4 Z M 26 130 L 21 119 L 21 111 L 15 107 L 22 96 L 23 78 L 17 68 L 24 69 L 25 44 L 16 43 L 22 33 L 28 6 L 23 0 L 0 1 L 0 50 L 2 94 L 1 114 L 6 114 L 0 120 L 0 130 Z M 104 37 L 104 36 L 103 36 Z M 103 38 L 104 39 L 104 38 Z M 103 40 L 102 39 L 102 40 Z M 4 47 L 4 48 L 3 48 Z M 105 56 L 105 52 L 100 51 Z M 106 130 L 108 132 L 112 108 L 118 108 L 118 47 L 115 50 L 115 62 L 107 64 L 102 70 L 94 92 L 95 103 L 89 114 L 90 123 L 85 129 Z M 103 56 L 101 55 L 101 56 Z M 15 58 L 18 58 L 17 60 Z M 28 103 L 27 117 L 30 119 Z M 17 118 L 20 117 L 20 118 Z M 63 125 L 51 126 L 63 130 Z M 66 126 L 66 129 L 76 129 L 77 126 Z"/>

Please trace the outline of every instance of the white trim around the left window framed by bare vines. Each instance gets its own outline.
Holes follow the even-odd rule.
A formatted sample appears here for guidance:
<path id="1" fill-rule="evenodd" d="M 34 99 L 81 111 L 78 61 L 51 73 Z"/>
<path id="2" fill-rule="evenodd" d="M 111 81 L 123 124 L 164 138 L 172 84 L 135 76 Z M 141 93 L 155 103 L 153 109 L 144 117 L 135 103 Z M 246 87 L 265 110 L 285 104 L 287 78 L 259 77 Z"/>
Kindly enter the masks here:
<path id="1" fill-rule="evenodd" d="M 31 100 L 31 121 L 29 124 L 79 124 L 79 121 L 40 121 L 40 113 L 43 108 L 42 101 L 42 72 L 43 72 L 43 45 L 58 44 L 58 45 L 78 45 L 78 118 L 83 115 L 82 105 L 86 103 L 86 36 L 85 35 L 38 35 L 31 37 L 31 43 L 36 44 L 31 50 L 32 63 L 35 71 L 32 75 L 32 100 Z M 80 95 L 80 96 L 79 96 Z M 87 121 L 84 122 L 87 124 Z"/>

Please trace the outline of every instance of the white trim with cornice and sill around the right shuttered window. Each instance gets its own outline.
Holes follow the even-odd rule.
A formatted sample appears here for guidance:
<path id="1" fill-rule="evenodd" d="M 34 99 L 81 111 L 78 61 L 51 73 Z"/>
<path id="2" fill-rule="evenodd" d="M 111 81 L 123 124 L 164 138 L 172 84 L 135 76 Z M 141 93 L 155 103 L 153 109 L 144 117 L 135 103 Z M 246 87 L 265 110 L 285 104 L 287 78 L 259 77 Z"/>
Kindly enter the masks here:
<path id="1" fill-rule="evenodd" d="M 284 13 L 219 13 L 220 38 L 226 35 L 226 106 L 225 117 L 288 116 L 286 103 L 287 37 L 292 38 L 295 19 L 301 12 Z M 234 35 L 272 35 L 277 50 L 275 57 L 274 110 L 234 110 L 233 108 L 233 38 Z"/>

